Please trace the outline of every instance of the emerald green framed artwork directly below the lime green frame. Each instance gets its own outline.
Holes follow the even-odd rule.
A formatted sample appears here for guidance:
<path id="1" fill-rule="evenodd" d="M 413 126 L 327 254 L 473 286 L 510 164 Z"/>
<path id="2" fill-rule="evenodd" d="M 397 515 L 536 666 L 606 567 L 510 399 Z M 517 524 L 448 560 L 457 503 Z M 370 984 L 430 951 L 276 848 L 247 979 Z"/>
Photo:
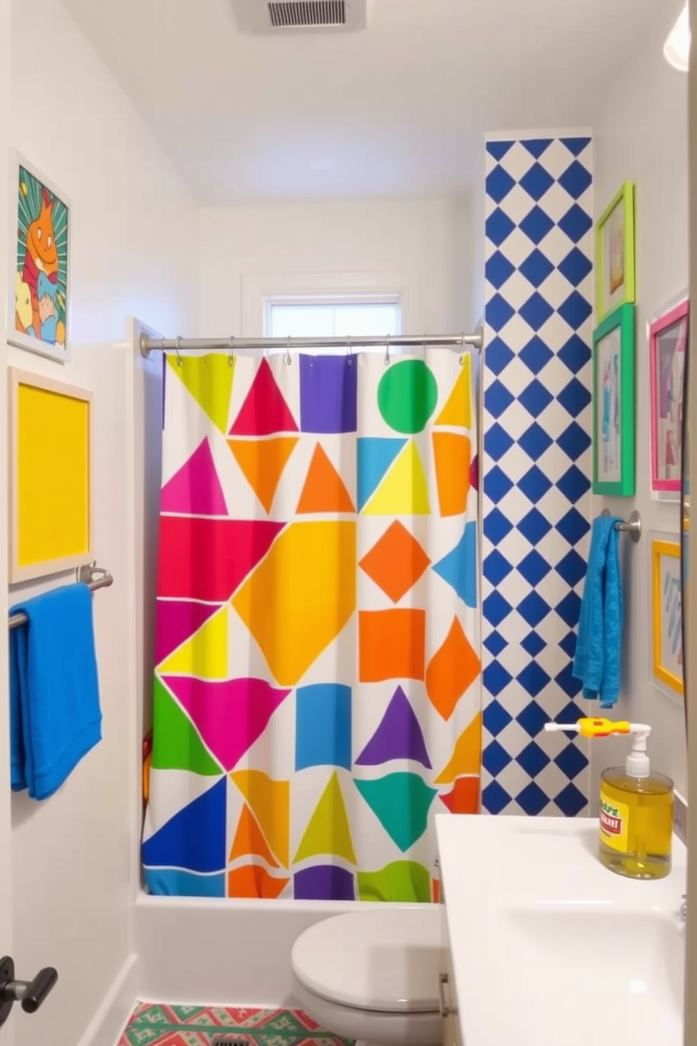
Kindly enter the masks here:
<path id="1" fill-rule="evenodd" d="M 593 335 L 593 492 L 634 494 L 633 305 L 620 305 Z"/>

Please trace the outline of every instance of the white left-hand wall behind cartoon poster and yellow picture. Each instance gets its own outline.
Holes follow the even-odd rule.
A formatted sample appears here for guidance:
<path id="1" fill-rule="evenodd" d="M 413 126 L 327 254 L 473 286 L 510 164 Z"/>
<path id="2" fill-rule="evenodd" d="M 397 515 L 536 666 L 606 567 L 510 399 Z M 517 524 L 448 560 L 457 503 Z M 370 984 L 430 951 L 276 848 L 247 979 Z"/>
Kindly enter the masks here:
<path id="1" fill-rule="evenodd" d="M 5 39 L 0 27 L 0 69 Z M 126 317 L 195 332 L 199 212 L 57 0 L 13 0 L 10 47 L 11 144 L 72 202 L 71 329 L 80 346 L 64 368 L 19 349 L 10 363 L 95 390 L 95 545 L 115 576 L 94 602 L 103 741 L 53 798 L 13 797 L 18 974 L 50 964 L 60 976 L 38 1014 L 17 1017 L 17 1041 L 74 1046 L 132 947 L 139 751 Z"/>

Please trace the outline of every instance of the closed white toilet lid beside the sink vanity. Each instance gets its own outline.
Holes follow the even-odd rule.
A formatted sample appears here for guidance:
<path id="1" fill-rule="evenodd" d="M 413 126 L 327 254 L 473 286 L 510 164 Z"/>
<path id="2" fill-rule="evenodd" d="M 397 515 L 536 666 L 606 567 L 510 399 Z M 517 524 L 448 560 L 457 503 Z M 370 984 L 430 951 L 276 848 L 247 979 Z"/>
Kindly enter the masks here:
<path id="1" fill-rule="evenodd" d="M 437 1011 L 440 912 L 372 908 L 324 919 L 293 947 L 293 971 L 313 992 L 356 1009 Z"/>

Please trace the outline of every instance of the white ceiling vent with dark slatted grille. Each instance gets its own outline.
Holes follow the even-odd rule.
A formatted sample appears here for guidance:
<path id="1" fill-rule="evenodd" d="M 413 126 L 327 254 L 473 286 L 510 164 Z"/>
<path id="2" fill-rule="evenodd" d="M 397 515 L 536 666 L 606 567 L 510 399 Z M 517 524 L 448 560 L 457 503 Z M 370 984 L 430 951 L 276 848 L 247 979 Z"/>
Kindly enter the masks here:
<path id="1" fill-rule="evenodd" d="M 285 30 L 350 32 L 365 29 L 368 0 L 232 0 L 242 32 L 276 36 Z"/>

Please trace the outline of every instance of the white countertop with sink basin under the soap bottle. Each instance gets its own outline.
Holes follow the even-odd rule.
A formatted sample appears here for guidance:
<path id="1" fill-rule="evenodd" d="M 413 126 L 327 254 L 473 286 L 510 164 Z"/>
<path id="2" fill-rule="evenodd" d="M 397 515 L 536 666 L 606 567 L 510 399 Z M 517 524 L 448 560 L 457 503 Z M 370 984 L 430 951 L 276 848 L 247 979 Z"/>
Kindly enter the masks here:
<path id="1" fill-rule="evenodd" d="M 636 881 L 600 863 L 597 819 L 436 831 L 463 1046 L 682 1046 L 677 837 L 670 876 Z"/>

